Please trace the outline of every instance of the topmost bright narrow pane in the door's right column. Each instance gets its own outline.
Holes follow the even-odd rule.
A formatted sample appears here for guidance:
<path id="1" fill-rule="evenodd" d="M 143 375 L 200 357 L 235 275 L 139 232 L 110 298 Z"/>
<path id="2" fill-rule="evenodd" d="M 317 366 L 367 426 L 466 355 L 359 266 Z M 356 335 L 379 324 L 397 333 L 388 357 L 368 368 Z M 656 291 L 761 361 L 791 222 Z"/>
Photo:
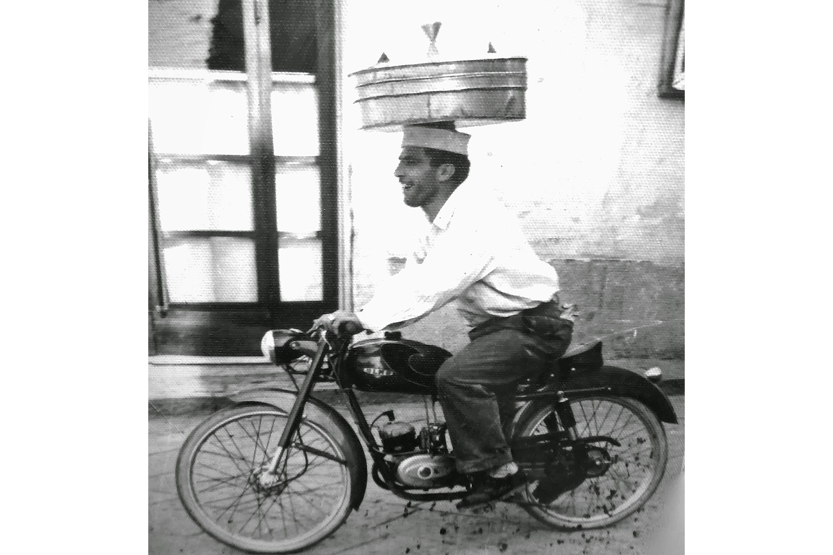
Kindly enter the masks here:
<path id="1" fill-rule="evenodd" d="M 318 156 L 318 94 L 315 85 L 274 84 L 272 136 L 275 156 Z"/>

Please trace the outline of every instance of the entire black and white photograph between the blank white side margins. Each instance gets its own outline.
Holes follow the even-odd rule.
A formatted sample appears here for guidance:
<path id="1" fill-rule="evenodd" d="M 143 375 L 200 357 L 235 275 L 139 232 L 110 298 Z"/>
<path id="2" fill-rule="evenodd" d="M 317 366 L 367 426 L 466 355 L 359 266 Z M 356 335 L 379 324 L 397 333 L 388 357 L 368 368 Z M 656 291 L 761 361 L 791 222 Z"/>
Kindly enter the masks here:
<path id="1" fill-rule="evenodd" d="M 149 0 L 149 553 L 683 553 L 683 0 Z"/>

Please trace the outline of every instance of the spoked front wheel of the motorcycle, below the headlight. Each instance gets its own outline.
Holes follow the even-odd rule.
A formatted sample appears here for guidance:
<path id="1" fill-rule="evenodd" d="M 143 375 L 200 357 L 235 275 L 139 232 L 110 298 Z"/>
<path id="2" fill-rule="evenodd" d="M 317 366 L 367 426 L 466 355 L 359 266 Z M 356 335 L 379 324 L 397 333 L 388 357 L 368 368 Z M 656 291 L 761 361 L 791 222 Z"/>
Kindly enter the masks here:
<path id="1" fill-rule="evenodd" d="M 303 419 L 278 467 L 277 483 L 258 476 L 277 446 L 287 414 L 247 405 L 212 414 L 177 458 L 177 492 L 213 538 L 250 553 L 294 553 L 327 538 L 349 515 L 346 449 L 322 425 Z"/>

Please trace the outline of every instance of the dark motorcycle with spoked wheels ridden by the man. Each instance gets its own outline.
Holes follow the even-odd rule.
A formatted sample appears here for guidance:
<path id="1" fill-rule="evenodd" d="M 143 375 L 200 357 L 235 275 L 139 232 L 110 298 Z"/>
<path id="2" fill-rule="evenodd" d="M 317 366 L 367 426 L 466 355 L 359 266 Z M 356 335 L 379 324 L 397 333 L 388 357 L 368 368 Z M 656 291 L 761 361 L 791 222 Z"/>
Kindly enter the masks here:
<path id="1" fill-rule="evenodd" d="M 213 538 L 252 553 L 294 553 L 322 541 L 362 504 L 365 448 L 373 481 L 399 498 L 450 501 L 471 488 L 456 472 L 436 414 L 434 378 L 451 356 L 445 349 L 398 332 L 352 343 L 320 329 L 271 330 L 261 349 L 296 390 L 237 394 L 231 408 L 192 431 L 177 458 L 179 498 Z M 341 392 L 358 434 L 312 396 L 327 382 Z M 402 419 L 388 409 L 368 421 L 357 391 L 421 399 L 425 414 Z M 528 480 L 506 502 L 541 523 L 610 526 L 659 486 L 668 461 L 661 422 L 676 424 L 675 411 L 651 380 L 606 366 L 601 342 L 551 361 L 499 400 L 512 456 Z"/>

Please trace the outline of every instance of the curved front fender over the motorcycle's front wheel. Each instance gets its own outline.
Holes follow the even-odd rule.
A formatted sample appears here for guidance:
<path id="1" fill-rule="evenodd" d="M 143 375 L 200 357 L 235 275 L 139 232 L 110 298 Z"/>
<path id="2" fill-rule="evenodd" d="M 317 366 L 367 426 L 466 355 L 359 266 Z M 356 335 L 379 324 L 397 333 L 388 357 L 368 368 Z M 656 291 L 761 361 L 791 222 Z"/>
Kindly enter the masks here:
<path id="1" fill-rule="evenodd" d="M 292 405 L 295 404 L 297 394 L 287 389 L 249 389 L 232 395 L 229 399 L 234 404 L 268 404 L 288 414 Z M 352 426 L 347 423 L 347 419 L 339 414 L 336 409 L 314 397 L 307 399 L 303 416 L 317 424 L 332 424 L 326 426 L 327 432 L 332 434 L 333 439 L 344 448 L 348 458 L 356 461 L 356 464 L 350 468 L 351 478 L 353 483 L 356 484 L 356 487 L 353 488 L 350 504 L 352 508 L 358 510 L 359 505 L 362 504 L 362 499 L 364 499 L 365 490 L 367 490 L 367 458 L 365 458 L 362 442 L 359 441 Z"/>

